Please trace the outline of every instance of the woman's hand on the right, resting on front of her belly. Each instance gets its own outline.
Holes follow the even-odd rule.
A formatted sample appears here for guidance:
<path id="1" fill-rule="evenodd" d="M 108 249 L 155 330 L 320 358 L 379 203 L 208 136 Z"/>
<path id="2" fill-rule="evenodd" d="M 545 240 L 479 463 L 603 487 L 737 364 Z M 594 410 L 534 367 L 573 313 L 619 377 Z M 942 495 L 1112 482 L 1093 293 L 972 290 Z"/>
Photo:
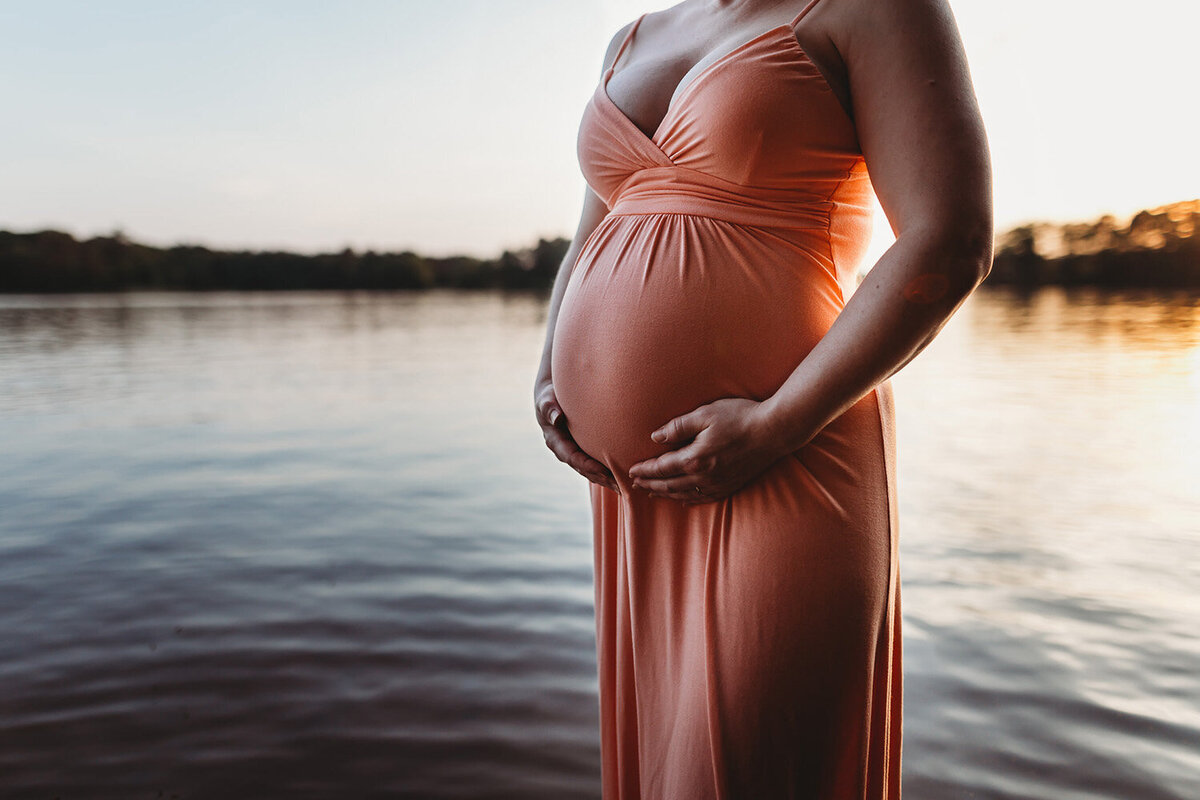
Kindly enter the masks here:
<path id="1" fill-rule="evenodd" d="M 676 450 L 629 468 L 634 486 L 680 503 L 733 494 L 786 455 L 763 403 L 727 397 L 677 416 L 650 434 Z"/>

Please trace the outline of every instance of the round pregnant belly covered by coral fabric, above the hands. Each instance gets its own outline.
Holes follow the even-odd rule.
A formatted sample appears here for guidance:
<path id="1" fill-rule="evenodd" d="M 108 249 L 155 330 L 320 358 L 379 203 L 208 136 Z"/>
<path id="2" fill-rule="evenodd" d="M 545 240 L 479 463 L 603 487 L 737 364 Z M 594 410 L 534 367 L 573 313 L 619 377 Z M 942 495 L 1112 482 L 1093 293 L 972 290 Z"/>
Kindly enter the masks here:
<path id="1" fill-rule="evenodd" d="M 650 433 L 720 397 L 766 399 L 841 307 L 803 248 L 706 217 L 610 217 L 554 325 L 554 391 L 578 445 L 624 480 Z"/>

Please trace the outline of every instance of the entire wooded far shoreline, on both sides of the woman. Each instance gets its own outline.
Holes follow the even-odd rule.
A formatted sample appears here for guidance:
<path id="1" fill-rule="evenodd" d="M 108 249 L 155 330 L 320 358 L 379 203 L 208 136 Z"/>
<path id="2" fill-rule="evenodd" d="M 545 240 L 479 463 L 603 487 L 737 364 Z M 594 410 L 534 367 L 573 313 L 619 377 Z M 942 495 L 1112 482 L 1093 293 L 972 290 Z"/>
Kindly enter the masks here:
<path id="1" fill-rule="evenodd" d="M 984 285 L 1200 287 L 1200 200 L 1148 209 L 1118 225 L 1030 223 L 996 237 Z M 539 239 L 493 259 L 412 251 L 304 255 L 152 247 L 116 233 L 0 230 L 0 293 L 508 289 L 545 291 L 570 240 Z"/>

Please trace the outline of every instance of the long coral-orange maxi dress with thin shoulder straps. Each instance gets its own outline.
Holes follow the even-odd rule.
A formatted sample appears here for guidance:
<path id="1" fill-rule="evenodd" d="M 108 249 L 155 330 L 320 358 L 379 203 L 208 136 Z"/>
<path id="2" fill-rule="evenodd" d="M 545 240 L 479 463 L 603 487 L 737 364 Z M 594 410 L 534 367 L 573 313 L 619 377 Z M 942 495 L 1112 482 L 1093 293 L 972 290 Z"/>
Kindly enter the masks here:
<path id="1" fill-rule="evenodd" d="M 607 84 L 578 156 L 610 213 L 559 308 L 569 429 L 590 486 L 605 800 L 899 798 L 894 411 L 880 384 L 732 497 L 631 486 L 650 432 L 764 399 L 833 324 L 868 245 L 854 124 L 802 49 L 763 31 L 677 92 L 647 137 Z"/>

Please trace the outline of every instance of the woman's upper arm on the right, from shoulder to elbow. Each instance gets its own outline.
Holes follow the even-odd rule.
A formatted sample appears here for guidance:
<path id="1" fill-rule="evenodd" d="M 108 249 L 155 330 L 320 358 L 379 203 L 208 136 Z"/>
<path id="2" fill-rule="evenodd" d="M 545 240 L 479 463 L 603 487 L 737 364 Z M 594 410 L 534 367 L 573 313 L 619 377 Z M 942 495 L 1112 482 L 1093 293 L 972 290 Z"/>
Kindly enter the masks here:
<path id="1" fill-rule="evenodd" d="M 991 263 L 991 156 L 948 0 L 854 0 L 845 41 L 858 140 L 896 236 Z"/>

